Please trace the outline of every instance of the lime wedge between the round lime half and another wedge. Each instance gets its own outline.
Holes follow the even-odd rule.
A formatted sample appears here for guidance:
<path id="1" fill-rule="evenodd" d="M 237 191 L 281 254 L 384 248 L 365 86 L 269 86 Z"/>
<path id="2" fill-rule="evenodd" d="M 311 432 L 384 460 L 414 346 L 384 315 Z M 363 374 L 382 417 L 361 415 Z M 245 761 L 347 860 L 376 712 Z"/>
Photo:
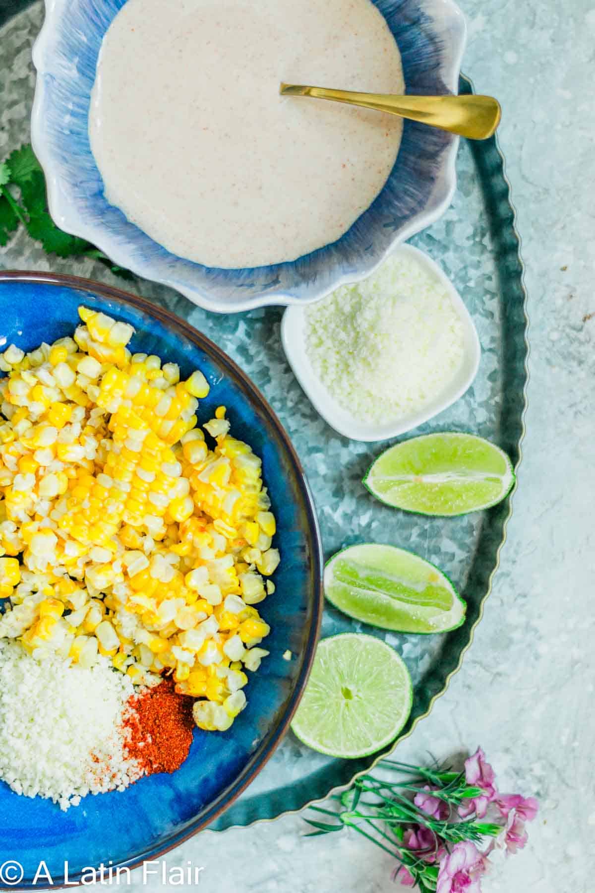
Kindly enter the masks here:
<path id="1" fill-rule="evenodd" d="M 446 632 L 467 605 L 434 564 L 394 546 L 364 543 L 326 564 L 325 595 L 355 620 L 398 632 Z"/>

